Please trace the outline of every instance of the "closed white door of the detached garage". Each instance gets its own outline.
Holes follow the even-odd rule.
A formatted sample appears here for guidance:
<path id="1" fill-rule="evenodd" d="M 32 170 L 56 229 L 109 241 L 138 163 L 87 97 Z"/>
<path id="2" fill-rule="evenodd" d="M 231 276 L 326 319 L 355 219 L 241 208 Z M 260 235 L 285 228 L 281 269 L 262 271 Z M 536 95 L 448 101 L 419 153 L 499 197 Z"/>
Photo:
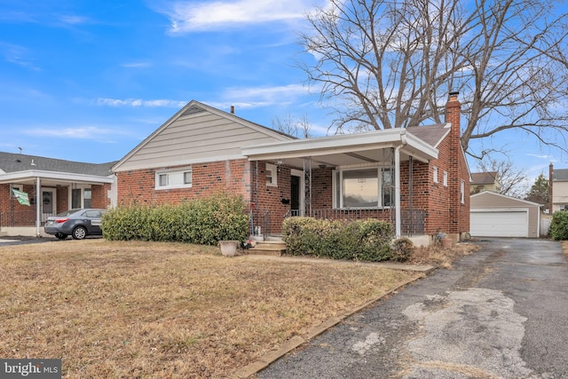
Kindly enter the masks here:
<path id="1" fill-rule="evenodd" d="M 528 209 L 475 210 L 469 213 L 470 233 L 474 237 L 528 237 Z"/>

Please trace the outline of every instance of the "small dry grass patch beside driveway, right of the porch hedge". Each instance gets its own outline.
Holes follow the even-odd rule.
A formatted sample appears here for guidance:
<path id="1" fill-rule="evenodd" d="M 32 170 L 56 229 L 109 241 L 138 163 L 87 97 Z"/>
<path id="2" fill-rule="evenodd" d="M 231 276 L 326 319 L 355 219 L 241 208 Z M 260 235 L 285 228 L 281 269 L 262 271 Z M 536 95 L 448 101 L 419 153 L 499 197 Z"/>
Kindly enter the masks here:
<path id="1" fill-rule="evenodd" d="M 430 245 L 414 249 L 413 257 L 409 262 L 413 265 L 434 265 L 451 269 L 454 260 L 469 256 L 469 254 L 481 249 L 473 242 L 456 243 L 451 249 L 442 248 L 439 245 Z"/>

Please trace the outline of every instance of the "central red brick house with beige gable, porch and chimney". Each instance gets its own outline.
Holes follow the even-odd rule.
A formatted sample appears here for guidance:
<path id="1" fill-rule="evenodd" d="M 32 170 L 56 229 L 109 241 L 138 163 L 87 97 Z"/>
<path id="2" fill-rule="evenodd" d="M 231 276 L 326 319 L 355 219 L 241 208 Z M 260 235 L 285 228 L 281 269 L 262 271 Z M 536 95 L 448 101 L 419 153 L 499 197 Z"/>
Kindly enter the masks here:
<path id="1" fill-rule="evenodd" d="M 179 203 L 220 190 L 254 225 L 285 217 L 375 217 L 398 235 L 469 232 L 469 168 L 457 94 L 446 123 L 296 139 L 191 101 L 113 167 L 119 204 Z"/>

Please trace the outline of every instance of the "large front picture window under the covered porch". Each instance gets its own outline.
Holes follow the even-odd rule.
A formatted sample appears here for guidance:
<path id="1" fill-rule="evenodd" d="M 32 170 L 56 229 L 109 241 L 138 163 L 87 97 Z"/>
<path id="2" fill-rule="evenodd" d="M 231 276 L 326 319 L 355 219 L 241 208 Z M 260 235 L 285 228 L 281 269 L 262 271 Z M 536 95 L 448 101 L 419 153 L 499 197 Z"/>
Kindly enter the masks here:
<path id="1" fill-rule="evenodd" d="M 386 207 L 394 200 L 393 171 L 378 167 L 335 170 L 335 208 Z"/>

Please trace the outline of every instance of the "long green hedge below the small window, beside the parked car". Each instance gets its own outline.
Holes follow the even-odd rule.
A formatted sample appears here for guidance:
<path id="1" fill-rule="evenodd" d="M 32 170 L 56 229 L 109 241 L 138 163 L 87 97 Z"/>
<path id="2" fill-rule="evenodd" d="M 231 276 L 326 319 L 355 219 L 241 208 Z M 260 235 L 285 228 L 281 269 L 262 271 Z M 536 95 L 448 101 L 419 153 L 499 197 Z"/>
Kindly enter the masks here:
<path id="1" fill-rule="evenodd" d="M 110 241 L 172 241 L 216 245 L 245 241 L 249 217 L 241 196 L 218 193 L 179 205 L 130 205 L 109 209 L 101 220 Z"/>

